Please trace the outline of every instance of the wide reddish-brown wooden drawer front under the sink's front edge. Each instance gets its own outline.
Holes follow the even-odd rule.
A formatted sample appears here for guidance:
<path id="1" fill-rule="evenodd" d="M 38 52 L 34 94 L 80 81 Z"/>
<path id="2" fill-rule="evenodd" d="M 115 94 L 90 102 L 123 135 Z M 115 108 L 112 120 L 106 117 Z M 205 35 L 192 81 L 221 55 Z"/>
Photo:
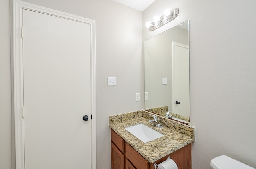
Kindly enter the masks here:
<path id="1" fill-rule="evenodd" d="M 137 169 L 148 169 L 149 163 L 142 155 L 140 155 L 134 148 L 132 148 L 128 143 L 125 142 L 126 158 L 131 161 L 131 163 Z"/>

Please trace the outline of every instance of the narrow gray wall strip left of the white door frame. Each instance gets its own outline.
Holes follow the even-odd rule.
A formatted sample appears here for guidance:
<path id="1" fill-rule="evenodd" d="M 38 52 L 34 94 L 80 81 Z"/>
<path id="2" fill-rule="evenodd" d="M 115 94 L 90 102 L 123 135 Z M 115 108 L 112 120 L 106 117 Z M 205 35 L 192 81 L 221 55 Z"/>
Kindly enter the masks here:
<path id="1" fill-rule="evenodd" d="M 10 169 L 12 159 L 11 64 L 9 0 L 0 2 L 0 168 Z"/>

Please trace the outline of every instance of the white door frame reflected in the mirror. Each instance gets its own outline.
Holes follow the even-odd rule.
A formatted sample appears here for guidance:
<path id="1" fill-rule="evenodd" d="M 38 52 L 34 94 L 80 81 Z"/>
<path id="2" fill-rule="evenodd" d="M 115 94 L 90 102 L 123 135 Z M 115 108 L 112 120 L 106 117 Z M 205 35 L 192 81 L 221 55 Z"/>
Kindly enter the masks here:
<path id="1" fill-rule="evenodd" d="M 172 112 L 174 112 L 174 113 L 175 113 L 175 102 L 174 102 L 174 100 L 175 100 L 175 83 L 174 83 L 173 78 L 174 78 L 174 68 L 175 68 L 175 65 L 174 65 L 175 46 L 180 46 L 180 47 L 189 49 L 188 45 L 184 45 L 182 43 L 172 41 Z M 189 60 L 188 60 L 188 62 L 189 62 Z"/>

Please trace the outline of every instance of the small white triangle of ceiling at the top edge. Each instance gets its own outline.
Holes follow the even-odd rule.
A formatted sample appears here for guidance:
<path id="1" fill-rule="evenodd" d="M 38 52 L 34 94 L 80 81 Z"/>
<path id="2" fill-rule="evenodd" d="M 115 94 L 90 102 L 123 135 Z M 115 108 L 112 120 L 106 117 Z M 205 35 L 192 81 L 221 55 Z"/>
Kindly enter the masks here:
<path id="1" fill-rule="evenodd" d="M 124 4 L 136 10 L 144 11 L 150 4 L 152 4 L 155 0 L 113 0 L 120 4 Z"/>

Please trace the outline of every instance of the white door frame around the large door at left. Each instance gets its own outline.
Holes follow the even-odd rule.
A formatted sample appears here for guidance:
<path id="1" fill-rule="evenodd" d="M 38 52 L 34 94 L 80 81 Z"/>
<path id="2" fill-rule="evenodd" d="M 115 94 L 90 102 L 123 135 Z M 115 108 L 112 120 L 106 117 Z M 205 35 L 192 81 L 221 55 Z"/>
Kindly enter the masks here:
<path id="1" fill-rule="evenodd" d="M 24 159 L 24 118 L 23 107 L 23 51 L 22 51 L 22 10 L 32 10 L 60 18 L 90 24 L 91 49 L 91 163 L 96 169 L 96 49 L 95 21 L 73 14 L 52 10 L 20 0 L 10 0 L 11 14 L 11 63 L 12 63 L 12 114 L 14 115 L 15 131 L 15 163 L 16 169 L 25 169 Z M 24 110 L 23 110 L 24 112 Z M 25 112 L 24 112 L 25 113 Z M 14 160 L 14 159 L 13 159 Z"/>

